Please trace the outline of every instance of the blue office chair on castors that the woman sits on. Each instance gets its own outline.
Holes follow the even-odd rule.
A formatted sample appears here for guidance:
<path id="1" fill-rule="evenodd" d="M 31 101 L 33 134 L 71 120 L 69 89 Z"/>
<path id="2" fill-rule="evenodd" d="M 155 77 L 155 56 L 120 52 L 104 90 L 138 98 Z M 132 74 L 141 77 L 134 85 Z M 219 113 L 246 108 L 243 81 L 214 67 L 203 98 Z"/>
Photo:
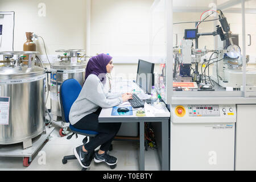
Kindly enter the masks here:
<path id="1" fill-rule="evenodd" d="M 76 101 L 77 97 L 79 96 L 79 93 L 81 92 L 81 85 L 79 82 L 73 78 L 65 80 L 60 85 L 60 106 L 61 106 L 61 116 L 64 122 L 69 122 L 69 111 L 71 109 L 71 106 Z M 69 135 L 67 139 L 71 139 L 74 134 L 84 135 L 86 136 L 82 142 L 85 144 L 89 137 L 96 137 L 98 134 L 97 131 L 90 131 L 90 130 L 81 130 L 77 129 L 76 127 L 72 126 L 71 123 L 69 123 L 69 129 L 73 134 Z M 112 146 L 110 147 L 110 150 L 112 150 Z M 66 164 L 68 160 L 76 159 L 75 155 L 68 155 L 64 156 L 62 159 L 62 163 Z M 110 166 L 112 168 L 112 166 Z M 82 171 L 85 171 L 87 168 L 82 168 Z"/>

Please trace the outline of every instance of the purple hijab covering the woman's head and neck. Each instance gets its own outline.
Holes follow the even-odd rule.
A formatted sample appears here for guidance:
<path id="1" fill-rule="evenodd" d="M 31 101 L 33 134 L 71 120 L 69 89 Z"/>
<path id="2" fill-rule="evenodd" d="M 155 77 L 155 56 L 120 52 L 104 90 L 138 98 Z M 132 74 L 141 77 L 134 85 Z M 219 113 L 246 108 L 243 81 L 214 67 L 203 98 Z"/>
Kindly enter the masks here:
<path id="1" fill-rule="evenodd" d="M 85 69 L 85 80 L 90 74 L 93 74 L 105 83 L 107 73 L 106 65 L 109 64 L 110 60 L 112 60 L 112 57 L 105 53 L 91 57 Z"/>

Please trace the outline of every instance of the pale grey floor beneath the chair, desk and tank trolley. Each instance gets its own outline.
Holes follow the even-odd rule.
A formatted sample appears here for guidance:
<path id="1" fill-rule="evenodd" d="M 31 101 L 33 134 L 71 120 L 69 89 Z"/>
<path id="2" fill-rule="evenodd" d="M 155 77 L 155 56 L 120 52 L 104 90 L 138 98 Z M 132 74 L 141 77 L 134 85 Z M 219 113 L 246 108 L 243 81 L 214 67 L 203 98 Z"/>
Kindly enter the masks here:
<path id="1" fill-rule="evenodd" d="M 60 137 L 59 127 L 54 126 L 51 138 L 39 151 L 32 156 L 32 162 L 29 167 L 23 167 L 23 158 L 13 157 L 0 157 L 0 170 L 21 170 L 21 171 L 76 171 L 81 170 L 81 166 L 77 159 L 69 160 L 67 164 L 62 163 L 63 156 L 73 155 L 73 148 L 82 144 L 82 137 L 78 138 L 73 136 L 72 139 L 67 140 L 67 137 Z M 139 142 L 137 141 L 113 141 L 113 151 L 109 152 L 118 158 L 117 167 L 110 169 L 104 163 L 94 163 L 88 170 L 91 171 L 106 171 L 106 170 L 119 170 L 119 171 L 138 171 L 138 155 L 139 155 Z M 148 148 L 145 151 L 145 169 L 147 171 L 160 170 L 160 163 L 156 150 Z"/>

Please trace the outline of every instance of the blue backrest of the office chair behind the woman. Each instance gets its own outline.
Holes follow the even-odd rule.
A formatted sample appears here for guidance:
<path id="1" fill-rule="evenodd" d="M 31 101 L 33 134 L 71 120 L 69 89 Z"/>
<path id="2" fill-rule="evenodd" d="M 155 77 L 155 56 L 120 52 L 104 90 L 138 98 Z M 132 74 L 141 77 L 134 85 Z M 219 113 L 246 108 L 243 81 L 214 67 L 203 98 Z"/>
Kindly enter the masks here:
<path id="1" fill-rule="evenodd" d="M 69 122 L 69 111 L 81 92 L 81 85 L 73 78 L 65 80 L 60 85 L 61 116 L 64 122 Z"/>

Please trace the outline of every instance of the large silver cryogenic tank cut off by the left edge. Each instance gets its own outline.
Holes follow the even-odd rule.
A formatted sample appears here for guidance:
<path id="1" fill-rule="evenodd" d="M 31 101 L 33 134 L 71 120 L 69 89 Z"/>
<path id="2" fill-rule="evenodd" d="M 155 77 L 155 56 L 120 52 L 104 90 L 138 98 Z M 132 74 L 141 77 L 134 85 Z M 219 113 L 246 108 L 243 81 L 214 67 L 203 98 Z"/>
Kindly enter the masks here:
<path id="1" fill-rule="evenodd" d="M 32 66 L 36 53 L 0 52 L 0 144 L 27 148 L 45 130 L 46 71 Z"/>

